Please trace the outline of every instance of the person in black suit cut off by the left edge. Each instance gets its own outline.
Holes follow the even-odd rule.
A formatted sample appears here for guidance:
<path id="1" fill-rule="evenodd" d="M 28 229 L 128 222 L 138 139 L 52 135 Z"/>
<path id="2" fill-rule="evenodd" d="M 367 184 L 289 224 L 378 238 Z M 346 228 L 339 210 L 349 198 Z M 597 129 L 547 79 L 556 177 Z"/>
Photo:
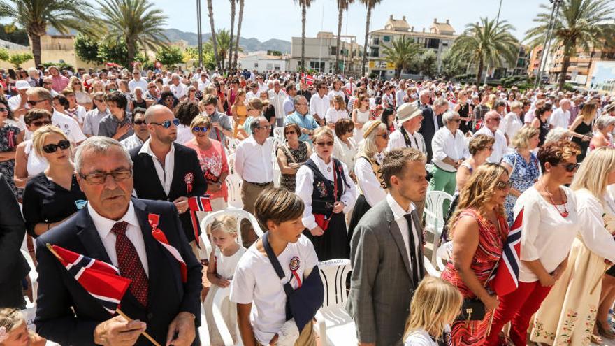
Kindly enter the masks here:
<path id="1" fill-rule="evenodd" d="M 10 177 L 9 179 L 12 179 Z M 0 174 L 0 307 L 24 308 L 22 280 L 29 266 L 20 252 L 26 226 L 13 191 Z"/>

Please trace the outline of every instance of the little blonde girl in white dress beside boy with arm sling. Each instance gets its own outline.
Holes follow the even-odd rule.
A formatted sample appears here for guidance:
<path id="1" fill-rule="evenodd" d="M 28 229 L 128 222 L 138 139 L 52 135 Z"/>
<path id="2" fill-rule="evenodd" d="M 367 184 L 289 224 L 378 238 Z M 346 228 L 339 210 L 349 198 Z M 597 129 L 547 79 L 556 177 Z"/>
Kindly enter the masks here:
<path id="1" fill-rule="evenodd" d="M 212 323 L 214 321 L 212 314 L 214 296 L 219 289 L 231 285 L 237 263 L 246 249 L 237 242 L 237 219 L 233 216 L 226 215 L 215 219 L 210 225 L 209 233 L 215 249 L 210 254 L 207 268 L 207 279 L 212 283 L 212 287 L 205 297 L 205 318 L 208 321 L 210 344 L 217 346 L 224 345 L 224 343 L 215 323 Z M 220 310 L 222 310 L 226 326 L 229 326 L 233 340 L 238 340 L 239 336 L 236 335 L 235 327 L 237 323 L 236 305 L 224 300 Z"/>

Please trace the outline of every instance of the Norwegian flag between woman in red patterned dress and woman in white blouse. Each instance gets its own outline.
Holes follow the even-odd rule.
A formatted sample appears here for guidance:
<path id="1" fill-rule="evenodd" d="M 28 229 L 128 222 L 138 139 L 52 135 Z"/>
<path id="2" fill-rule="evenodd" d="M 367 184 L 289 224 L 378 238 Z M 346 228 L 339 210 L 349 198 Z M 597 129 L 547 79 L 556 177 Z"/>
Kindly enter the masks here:
<path id="1" fill-rule="evenodd" d="M 523 209 L 516 215 L 508 233 L 502 257 L 493 277 L 493 289 L 498 296 L 511 293 L 519 287 L 519 256 L 521 255 L 521 229 Z"/>

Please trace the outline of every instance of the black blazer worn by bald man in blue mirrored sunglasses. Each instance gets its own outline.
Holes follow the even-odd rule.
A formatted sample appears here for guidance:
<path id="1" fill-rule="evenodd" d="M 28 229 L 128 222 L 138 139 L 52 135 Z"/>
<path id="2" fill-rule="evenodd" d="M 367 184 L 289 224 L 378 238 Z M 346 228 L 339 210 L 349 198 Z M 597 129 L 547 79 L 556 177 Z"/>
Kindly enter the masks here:
<path id="1" fill-rule="evenodd" d="M 154 161 L 149 154 L 139 154 L 140 147 L 130 151 L 133 162 L 134 189 L 140 199 L 153 199 L 154 201 L 173 202 L 178 197 L 203 196 L 207 193 L 207 180 L 201 171 L 201 164 L 198 163 L 196 151 L 189 147 L 173 143 L 175 146 L 175 164 L 173 168 L 173 181 L 168 196 L 164 192 L 162 183 L 156 174 Z M 188 193 L 185 182 L 187 175 L 192 175 L 192 191 Z M 194 229 L 190 219 L 190 213 L 184 212 L 180 215 L 182 226 L 188 241 L 194 240 Z"/>

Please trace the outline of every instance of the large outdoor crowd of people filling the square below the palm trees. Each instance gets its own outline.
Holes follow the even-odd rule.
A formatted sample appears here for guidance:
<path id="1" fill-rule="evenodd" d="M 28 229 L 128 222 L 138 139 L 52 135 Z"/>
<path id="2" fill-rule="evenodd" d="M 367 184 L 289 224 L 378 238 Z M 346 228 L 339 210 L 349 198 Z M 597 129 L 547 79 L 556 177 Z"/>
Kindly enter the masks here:
<path id="1" fill-rule="evenodd" d="M 223 345 L 219 289 L 230 291 L 234 340 L 315 345 L 317 266 L 330 259 L 351 261 L 345 308 L 360 345 L 615 338 L 614 129 L 615 99 L 591 91 L 0 69 L 0 345 L 148 345 L 145 332 Z M 452 242 L 440 277 L 424 256 L 432 191 L 452 201 L 444 236 L 429 240 Z M 194 197 L 207 208 L 193 210 Z M 201 229 L 231 201 L 264 236 L 233 216 Z M 514 229 L 518 284 L 498 296 L 492 279 Z M 110 317 L 48 244 L 131 279 L 121 305 L 132 319 Z M 29 286 L 22 246 L 37 263 L 38 334 L 17 312 Z"/>

